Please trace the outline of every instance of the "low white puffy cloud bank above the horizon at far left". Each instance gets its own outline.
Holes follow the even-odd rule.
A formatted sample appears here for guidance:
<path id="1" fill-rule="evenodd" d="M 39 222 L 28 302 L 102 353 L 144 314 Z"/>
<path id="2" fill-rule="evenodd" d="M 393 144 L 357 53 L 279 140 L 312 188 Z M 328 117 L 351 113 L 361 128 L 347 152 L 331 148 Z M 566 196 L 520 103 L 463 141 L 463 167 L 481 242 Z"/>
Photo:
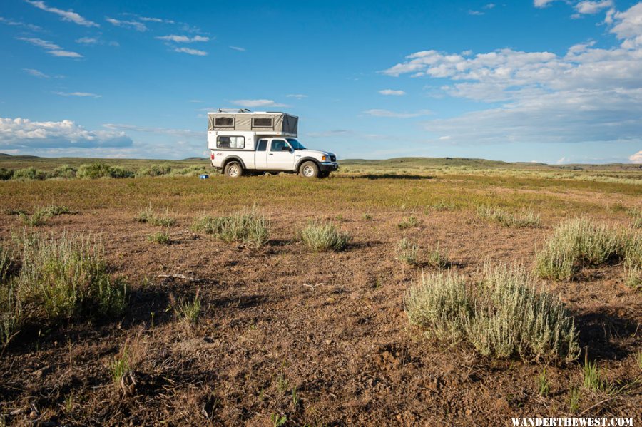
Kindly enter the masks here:
<path id="1" fill-rule="evenodd" d="M 124 132 L 86 130 L 71 120 L 39 122 L 0 118 L 0 151 L 37 153 L 68 148 L 118 148 L 132 145 Z M 92 151 L 93 154 L 93 151 Z"/>

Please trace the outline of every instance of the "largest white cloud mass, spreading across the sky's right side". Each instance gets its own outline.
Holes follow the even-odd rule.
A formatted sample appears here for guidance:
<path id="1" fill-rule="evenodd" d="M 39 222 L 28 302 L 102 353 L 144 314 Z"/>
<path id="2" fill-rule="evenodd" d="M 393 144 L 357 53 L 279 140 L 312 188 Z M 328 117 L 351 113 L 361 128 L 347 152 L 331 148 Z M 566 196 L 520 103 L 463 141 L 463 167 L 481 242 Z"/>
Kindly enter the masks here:
<path id="1" fill-rule="evenodd" d="M 613 13 L 610 31 L 619 46 L 596 48 L 588 41 L 564 55 L 509 48 L 474 56 L 419 51 L 382 73 L 438 78 L 439 93 L 494 103 L 428 120 L 424 128 L 435 140 L 634 144 L 642 140 L 642 3 Z"/>

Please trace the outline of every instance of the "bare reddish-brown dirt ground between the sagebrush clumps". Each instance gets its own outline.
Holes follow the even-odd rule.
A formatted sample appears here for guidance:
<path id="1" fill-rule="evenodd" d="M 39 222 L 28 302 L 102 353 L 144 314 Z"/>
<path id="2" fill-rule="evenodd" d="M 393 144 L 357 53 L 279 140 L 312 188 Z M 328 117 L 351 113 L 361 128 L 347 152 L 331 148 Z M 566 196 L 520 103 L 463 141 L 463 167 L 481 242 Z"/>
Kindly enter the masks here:
<path id="1" fill-rule="evenodd" d="M 228 197 L 234 185 L 244 192 L 260 179 L 212 180 L 208 191 L 215 200 Z M 291 184 L 290 178 L 282 179 Z M 351 185 L 377 197 L 385 197 L 379 192 L 386 185 L 411 186 L 387 181 Z M 430 190 L 413 185 L 419 192 Z M 447 200 L 452 184 L 444 185 Z M 73 200 L 82 191 L 72 187 L 46 195 L 34 187 L 0 187 L 0 194 L 13 197 L 5 198 L 3 207 L 28 209 L 38 200 L 80 205 Z M 511 192 L 518 199 L 526 192 L 550 195 L 547 188 L 488 191 Z M 613 200 L 639 202 L 636 190 L 596 191 L 593 197 L 585 190 L 567 192 L 589 207 L 601 200 L 605 206 Z M 132 205 L 146 205 L 151 194 L 155 206 L 174 206 L 178 224 L 169 229 L 171 245 L 148 242 L 146 237 L 161 228 L 133 221 L 138 209 Z M 409 325 L 403 303 L 404 292 L 428 267 L 404 265 L 394 251 L 400 238 L 412 236 L 423 249 L 439 243 L 454 268 L 465 273 L 485 261 L 531 266 L 536 245 L 552 225 L 581 212 L 581 206 L 566 210 L 560 200 L 558 211 L 542 212 L 544 227 L 514 229 L 480 220 L 470 209 L 365 209 L 353 203 L 354 194 L 340 193 L 340 202 L 327 205 L 292 202 L 294 209 L 266 202 L 270 242 L 262 249 L 191 232 L 200 212 L 223 213 L 225 207 L 205 202 L 181 207 L 180 197 L 169 190 L 166 195 L 141 190 L 125 207 L 117 202 L 80 207 L 38 227 L 101 235 L 111 271 L 130 284 L 130 302 L 123 317 L 113 321 L 69 321 L 51 330 L 23 331 L 0 359 L 4 422 L 29 424 L 31 416 L 39 417 L 36 424 L 66 426 L 272 426 L 276 418 L 287 418 L 286 426 L 488 426 L 509 425 L 512 416 L 569 416 L 569 391 L 582 384 L 581 361 L 547 366 L 551 393 L 540 397 L 541 364 L 486 359 L 465 344 L 428 339 Z M 163 197 L 166 204 L 159 202 Z M 621 212 L 603 209 L 587 208 L 586 214 L 625 221 Z M 400 230 L 397 225 L 409 215 L 419 224 Z M 350 232 L 347 250 L 317 254 L 305 249 L 295 235 L 312 217 L 333 220 Z M 14 215 L 0 213 L 0 223 L 4 238 L 23 227 Z M 173 277 L 178 275 L 187 279 Z M 561 295 L 576 317 L 581 345 L 588 346 L 606 378 L 622 386 L 611 394 L 583 390 L 576 415 L 642 422 L 642 371 L 636 363 L 642 350 L 642 294 L 623 283 L 622 266 L 543 285 Z M 178 321 L 173 307 L 197 292 L 203 312 L 198 324 L 188 326 Z M 126 343 L 136 362 L 133 396 L 123 396 L 109 369 Z"/>

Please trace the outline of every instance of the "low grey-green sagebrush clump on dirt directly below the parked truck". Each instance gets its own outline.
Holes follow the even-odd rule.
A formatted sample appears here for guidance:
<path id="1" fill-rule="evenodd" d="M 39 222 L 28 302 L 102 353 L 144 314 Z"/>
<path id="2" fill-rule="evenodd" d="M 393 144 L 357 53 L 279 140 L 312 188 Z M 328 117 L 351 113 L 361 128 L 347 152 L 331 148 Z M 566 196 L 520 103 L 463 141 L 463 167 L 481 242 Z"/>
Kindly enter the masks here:
<path id="1" fill-rule="evenodd" d="M 192 230 L 213 235 L 224 242 L 243 242 L 262 247 L 270 237 L 270 224 L 257 210 L 243 209 L 224 217 L 205 215 L 193 222 Z"/>

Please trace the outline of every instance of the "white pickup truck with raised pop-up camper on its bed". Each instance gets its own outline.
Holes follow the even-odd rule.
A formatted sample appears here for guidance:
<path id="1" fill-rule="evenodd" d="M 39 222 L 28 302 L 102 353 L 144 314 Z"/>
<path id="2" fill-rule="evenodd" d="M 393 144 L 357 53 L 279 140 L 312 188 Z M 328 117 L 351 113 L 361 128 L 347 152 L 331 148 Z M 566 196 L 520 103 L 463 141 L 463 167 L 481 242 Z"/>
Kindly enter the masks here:
<path id="1" fill-rule="evenodd" d="M 212 165 L 230 178 L 265 172 L 324 178 L 339 168 L 334 153 L 308 150 L 297 140 L 293 115 L 218 110 L 208 120 Z"/>

